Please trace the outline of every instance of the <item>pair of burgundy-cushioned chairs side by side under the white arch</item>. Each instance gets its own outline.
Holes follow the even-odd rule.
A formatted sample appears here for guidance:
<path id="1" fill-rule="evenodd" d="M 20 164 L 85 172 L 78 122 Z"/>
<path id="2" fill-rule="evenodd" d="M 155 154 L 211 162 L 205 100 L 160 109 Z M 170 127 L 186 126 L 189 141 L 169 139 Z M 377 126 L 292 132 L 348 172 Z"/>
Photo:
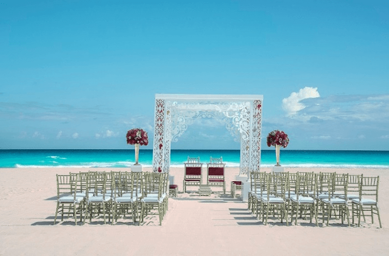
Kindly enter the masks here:
<path id="1" fill-rule="evenodd" d="M 202 165 L 203 163 L 200 162 L 200 157 L 188 157 L 187 162 L 184 163 L 184 193 L 186 193 L 187 186 L 200 186 L 203 184 L 203 176 L 201 174 Z M 223 187 L 223 194 L 226 194 L 225 166 L 226 164 L 223 163 L 222 157 L 210 157 L 209 163 L 207 163 L 207 186 Z"/>

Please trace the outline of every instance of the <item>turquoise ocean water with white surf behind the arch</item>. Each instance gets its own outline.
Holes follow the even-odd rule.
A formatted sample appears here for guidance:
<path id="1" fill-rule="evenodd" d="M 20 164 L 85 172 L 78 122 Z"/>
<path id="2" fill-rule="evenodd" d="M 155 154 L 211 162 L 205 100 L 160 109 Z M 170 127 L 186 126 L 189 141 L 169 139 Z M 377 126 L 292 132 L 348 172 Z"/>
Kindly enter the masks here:
<path id="1" fill-rule="evenodd" d="M 171 167 L 182 167 L 187 157 L 223 157 L 227 166 L 238 167 L 239 150 L 172 150 Z M 0 167 L 129 167 L 134 163 L 132 150 L 0 150 Z M 140 150 L 139 162 L 152 166 L 153 151 Z M 311 151 L 281 150 L 285 167 L 361 167 L 389 168 L 389 151 Z M 275 151 L 263 150 L 261 166 L 275 164 Z"/>

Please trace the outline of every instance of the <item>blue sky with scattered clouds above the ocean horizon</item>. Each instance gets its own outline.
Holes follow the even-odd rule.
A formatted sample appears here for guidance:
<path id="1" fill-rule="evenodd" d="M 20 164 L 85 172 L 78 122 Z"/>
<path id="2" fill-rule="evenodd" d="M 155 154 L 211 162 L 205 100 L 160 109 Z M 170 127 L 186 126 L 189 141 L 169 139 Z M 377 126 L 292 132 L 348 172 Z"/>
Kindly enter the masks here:
<path id="1" fill-rule="evenodd" d="M 0 149 L 133 148 L 155 94 L 263 95 L 262 148 L 389 150 L 387 1 L 0 1 Z M 171 144 L 239 149 L 198 119 Z"/>

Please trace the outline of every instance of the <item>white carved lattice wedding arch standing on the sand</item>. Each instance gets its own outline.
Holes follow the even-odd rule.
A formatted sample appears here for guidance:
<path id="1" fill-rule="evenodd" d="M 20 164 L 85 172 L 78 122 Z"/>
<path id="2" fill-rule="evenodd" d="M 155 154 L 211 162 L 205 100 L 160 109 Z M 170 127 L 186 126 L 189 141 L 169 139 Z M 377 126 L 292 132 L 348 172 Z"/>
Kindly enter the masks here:
<path id="1" fill-rule="evenodd" d="M 218 118 L 241 143 L 240 175 L 259 169 L 263 95 L 156 94 L 153 172 L 167 173 L 170 144 L 198 118 Z"/>

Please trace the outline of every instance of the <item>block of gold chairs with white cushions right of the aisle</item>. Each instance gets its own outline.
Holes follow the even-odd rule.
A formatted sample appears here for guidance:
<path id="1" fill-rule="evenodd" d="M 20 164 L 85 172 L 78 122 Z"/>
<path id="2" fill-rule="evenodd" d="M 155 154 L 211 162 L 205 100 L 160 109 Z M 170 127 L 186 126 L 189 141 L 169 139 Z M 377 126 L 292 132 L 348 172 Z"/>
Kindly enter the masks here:
<path id="1" fill-rule="evenodd" d="M 268 217 L 277 215 L 281 222 L 293 222 L 297 225 L 299 217 L 309 215 L 310 222 L 321 215 L 322 222 L 328 226 L 331 218 L 347 219 L 352 223 L 369 211 L 374 223 L 378 216 L 378 177 L 336 173 L 264 173 L 251 172 L 251 191 L 249 209 L 252 214 L 266 225 Z"/>

